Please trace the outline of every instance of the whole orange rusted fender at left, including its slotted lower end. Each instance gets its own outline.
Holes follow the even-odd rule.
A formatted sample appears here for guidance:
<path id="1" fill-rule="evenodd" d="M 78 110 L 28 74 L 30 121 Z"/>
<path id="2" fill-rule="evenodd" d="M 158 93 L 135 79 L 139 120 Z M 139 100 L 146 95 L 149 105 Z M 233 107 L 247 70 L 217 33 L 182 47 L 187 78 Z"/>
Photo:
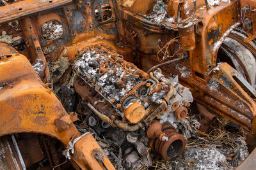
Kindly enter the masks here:
<path id="1" fill-rule="evenodd" d="M 72 122 L 74 114 L 67 114 L 52 89 L 42 83 L 24 55 L 16 53 L 1 59 L 0 85 L 0 105 L 4 106 L 0 108 L 0 136 L 36 132 L 52 136 L 66 146 L 80 136 Z M 65 128 L 58 128 L 58 120 L 65 124 Z M 74 147 L 76 152 L 72 159 L 81 169 L 114 169 L 91 134 L 86 134 Z"/>

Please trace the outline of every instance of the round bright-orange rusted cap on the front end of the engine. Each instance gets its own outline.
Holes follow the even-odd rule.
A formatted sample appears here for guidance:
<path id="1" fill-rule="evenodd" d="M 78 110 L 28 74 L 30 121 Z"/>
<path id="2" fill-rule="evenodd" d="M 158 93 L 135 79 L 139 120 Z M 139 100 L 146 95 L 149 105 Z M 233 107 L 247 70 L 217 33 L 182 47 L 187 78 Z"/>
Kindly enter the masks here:
<path id="1" fill-rule="evenodd" d="M 137 124 L 140 122 L 144 118 L 145 114 L 145 108 L 136 101 L 124 110 L 124 117 L 127 118 L 131 124 Z"/>

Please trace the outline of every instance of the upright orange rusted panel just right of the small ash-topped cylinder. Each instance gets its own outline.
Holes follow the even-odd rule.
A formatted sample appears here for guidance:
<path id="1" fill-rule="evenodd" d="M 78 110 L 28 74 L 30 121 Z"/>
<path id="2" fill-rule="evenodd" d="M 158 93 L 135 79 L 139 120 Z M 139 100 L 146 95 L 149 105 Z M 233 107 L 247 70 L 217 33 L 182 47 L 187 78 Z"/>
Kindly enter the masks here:
<path id="1" fill-rule="evenodd" d="M 198 40 L 195 50 L 189 53 L 193 75 L 195 72 L 204 74 L 216 66 L 218 48 L 225 36 L 235 28 L 233 25 L 238 21 L 237 13 L 236 1 L 196 11 L 196 15 L 204 19 L 196 24 Z"/>

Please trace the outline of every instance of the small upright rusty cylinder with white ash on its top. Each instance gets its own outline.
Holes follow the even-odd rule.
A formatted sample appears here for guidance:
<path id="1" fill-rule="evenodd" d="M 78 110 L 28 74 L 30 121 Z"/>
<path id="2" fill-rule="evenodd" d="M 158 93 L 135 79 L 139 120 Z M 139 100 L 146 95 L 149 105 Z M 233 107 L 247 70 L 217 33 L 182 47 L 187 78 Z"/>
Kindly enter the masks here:
<path id="1" fill-rule="evenodd" d="M 194 50 L 196 48 L 196 39 L 193 22 L 178 24 L 178 31 L 182 49 L 185 51 Z"/>

